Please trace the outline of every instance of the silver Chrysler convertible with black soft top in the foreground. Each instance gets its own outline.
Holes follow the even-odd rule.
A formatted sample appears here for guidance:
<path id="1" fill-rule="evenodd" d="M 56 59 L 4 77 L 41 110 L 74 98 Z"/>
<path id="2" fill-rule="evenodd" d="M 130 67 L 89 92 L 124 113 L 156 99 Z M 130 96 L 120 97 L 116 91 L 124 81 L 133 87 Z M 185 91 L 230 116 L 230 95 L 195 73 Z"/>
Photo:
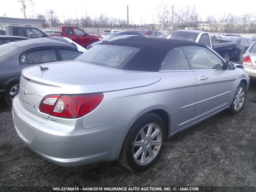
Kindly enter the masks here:
<path id="1" fill-rule="evenodd" d="M 182 40 L 132 36 L 41 66 L 22 70 L 13 121 L 31 150 L 60 166 L 118 159 L 144 171 L 166 138 L 240 112 L 249 86 L 241 65 Z"/>

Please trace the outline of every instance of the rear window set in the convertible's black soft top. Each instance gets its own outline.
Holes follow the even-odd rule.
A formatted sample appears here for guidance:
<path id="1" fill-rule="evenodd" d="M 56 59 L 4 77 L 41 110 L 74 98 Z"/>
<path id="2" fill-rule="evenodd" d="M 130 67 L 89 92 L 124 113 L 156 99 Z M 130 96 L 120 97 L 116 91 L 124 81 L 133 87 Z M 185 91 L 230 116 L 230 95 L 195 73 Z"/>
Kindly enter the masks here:
<path id="1" fill-rule="evenodd" d="M 134 47 L 97 45 L 84 52 L 75 60 L 94 65 L 122 69 L 139 51 L 139 48 Z"/>

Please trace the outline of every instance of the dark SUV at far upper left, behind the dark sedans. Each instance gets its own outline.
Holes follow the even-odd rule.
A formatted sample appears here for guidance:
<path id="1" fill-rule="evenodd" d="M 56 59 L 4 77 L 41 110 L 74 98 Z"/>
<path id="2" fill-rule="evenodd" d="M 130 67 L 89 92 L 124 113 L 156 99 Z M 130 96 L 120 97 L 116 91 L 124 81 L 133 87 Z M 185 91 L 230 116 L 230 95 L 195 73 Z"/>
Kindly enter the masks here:
<path id="1" fill-rule="evenodd" d="M 36 27 L 25 27 L 25 26 L 6 26 L 3 28 L 2 34 L 8 36 L 22 36 L 27 38 L 43 38 L 50 37 L 46 32 Z"/>

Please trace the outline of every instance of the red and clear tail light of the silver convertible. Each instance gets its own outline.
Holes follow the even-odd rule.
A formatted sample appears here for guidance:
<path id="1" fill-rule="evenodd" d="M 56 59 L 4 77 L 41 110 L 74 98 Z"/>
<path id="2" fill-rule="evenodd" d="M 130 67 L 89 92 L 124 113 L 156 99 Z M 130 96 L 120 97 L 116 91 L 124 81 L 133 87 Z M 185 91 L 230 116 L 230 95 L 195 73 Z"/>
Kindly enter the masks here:
<path id="1" fill-rule="evenodd" d="M 39 110 L 56 117 L 78 118 L 94 110 L 103 97 L 102 93 L 49 95 L 42 100 Z"/>

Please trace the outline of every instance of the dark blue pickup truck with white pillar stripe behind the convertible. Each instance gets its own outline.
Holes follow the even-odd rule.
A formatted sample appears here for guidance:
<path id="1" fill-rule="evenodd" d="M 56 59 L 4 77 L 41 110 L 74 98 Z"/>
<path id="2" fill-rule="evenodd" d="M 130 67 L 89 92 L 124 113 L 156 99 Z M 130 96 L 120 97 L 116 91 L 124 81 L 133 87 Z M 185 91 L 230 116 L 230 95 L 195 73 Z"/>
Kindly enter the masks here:
<path id="1" fill-rule="evenodd" d="M 215 41 L 215 39 L 212 42 L 212 38 L 208 32 L 199 30 L 176 30 L 172 32 L 170 39 L 187 40 L 205 44 L 220 54 L 226 61 L 236 57 L 236 42 L 225 40 Z"/>

